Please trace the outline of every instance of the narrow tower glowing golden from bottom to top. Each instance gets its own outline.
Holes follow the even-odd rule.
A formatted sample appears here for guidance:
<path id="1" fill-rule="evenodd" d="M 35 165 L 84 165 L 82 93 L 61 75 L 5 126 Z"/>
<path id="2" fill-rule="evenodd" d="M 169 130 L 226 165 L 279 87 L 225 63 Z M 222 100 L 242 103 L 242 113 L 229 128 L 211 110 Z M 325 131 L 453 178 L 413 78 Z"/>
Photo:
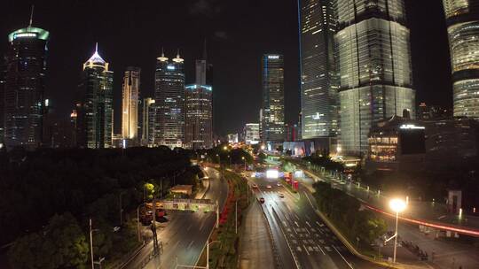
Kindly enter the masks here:
<path id="1" fill-rule="evenodd" d="M 130 66 L 123 77 L 122 137 L 129 145 L 137 145 L 138 142 L 140 72 L 140 68 Z"/>

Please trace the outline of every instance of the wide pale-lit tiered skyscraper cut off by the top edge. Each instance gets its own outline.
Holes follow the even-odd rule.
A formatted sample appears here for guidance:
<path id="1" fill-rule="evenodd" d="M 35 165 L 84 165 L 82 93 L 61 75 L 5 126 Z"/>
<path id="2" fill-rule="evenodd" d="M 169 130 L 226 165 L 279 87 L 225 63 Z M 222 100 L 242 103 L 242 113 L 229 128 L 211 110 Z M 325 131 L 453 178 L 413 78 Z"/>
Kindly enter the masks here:
<path id="1" fill-rule="evenodd" d="M 340 145 L 346 154 L 361 155 L 373 122 L 404 110 L 414 118 L 409 29 L 403 0 L 336 0 L 335 6 Z"/>

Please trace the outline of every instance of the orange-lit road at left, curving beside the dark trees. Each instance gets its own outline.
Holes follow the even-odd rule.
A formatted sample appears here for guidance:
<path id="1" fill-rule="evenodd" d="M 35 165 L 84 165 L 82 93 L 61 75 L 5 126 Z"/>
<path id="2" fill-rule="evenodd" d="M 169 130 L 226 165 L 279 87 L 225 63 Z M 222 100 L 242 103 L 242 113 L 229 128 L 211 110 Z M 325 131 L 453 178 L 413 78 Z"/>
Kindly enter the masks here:
<path id="1" fill-rule="evenodd" d="M 208 173 L 210 187 L 203 198 L 218 200 L 220 207 L 223 208 L 228 195 L 227 182 L 221 180 L 220 173 L 215 169 L 205 170 Z M 153 242 L 150 242 L 125 268 L 175 268 L 177 263 L 195 265 L 215 223 L 215 212 L 169 211 L 169 223 L 158 232 L 163 249 L 161 256 L 142 267 L 142 263 L 153 251 Z"/>

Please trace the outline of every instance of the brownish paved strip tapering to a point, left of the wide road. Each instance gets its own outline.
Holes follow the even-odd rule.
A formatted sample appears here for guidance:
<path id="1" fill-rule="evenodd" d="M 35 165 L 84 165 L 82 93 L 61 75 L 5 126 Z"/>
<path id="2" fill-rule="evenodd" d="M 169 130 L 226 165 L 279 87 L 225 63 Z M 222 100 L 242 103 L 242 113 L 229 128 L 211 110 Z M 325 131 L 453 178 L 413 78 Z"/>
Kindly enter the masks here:
<path id="1" fill-rule="evenodd" d="M 274 268 L 266 219 L 258 203 L 247 210 L 240 242 L 240 269 Z"/>

